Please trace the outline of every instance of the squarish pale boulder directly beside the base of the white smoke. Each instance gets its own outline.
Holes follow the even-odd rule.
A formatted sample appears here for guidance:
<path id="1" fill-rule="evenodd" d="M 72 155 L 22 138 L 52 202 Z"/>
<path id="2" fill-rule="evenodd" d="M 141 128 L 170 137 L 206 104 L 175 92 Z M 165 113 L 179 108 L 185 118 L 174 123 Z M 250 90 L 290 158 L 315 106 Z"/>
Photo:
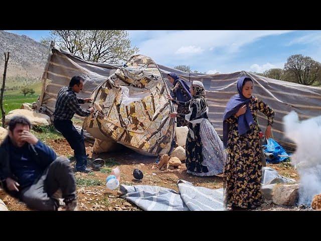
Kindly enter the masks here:
<path id="1" fill-rule="evenodd" d="M 299 184 L 277 184 L 273 188 L 272 200 L 277 205 L 294 206 L 299 197 Z"/>

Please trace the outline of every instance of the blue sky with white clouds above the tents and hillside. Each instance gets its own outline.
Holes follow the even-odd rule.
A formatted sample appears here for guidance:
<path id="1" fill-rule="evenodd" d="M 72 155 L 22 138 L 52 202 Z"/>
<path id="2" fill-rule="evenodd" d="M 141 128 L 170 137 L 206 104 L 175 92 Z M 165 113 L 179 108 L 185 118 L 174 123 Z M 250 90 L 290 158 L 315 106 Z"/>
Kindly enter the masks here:
<path id="1" fill-rule="evenodd" d="M 8 30 L 36 41 L 49 30 Z M 205 73 L 283 68 L 287 57 L 303 54 L 321 62 L 321 31 L 128 31 L 139 53 L 158 64 L 190 65 Z"/>

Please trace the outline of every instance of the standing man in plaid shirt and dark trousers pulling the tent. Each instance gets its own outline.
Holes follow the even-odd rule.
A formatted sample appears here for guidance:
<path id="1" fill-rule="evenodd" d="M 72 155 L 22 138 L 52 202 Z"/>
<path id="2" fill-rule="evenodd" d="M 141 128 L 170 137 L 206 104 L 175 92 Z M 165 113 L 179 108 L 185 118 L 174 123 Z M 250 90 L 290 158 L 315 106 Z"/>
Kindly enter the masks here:
<path id="1" fill-rule="evenodd" d="M 87 156 L 84 137 L 78 133 L 71 121 L 75 113 L 80 116 L 89 116 L 94 112 L 93 107 L 84 109 L 80 106 L 80 104 L 92 101 L 90 98 L 77 98 L 76 93 L 82 90 L 83 85 L 84 79 L 80 76 L 74 76 L 71 78 L 69 86 L 64 86 L 60 89 L 54 112 L 54 126 L 66 138 L 70 147 L 74 150 L 76 172 L 88 173 L 91 170 L 86 167 Z"/>

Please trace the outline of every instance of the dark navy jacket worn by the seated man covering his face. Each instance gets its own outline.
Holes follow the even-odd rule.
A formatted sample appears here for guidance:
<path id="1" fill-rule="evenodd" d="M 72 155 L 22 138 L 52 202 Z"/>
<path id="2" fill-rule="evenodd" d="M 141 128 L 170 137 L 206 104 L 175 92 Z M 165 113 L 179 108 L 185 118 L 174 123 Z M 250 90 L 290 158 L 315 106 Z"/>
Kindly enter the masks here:
<path id="1" fill-rule="evenodd" d="M 20 192 L 10 191 L 5 179 L 16 180 L 22 190 L 31 186 L 56 158 L 56 153 L 40 140 L 36 145 L 27 143 L 16 148 L 7 136 L 0 146 L 0 185 L 8 194 L 19 198 Z"/>

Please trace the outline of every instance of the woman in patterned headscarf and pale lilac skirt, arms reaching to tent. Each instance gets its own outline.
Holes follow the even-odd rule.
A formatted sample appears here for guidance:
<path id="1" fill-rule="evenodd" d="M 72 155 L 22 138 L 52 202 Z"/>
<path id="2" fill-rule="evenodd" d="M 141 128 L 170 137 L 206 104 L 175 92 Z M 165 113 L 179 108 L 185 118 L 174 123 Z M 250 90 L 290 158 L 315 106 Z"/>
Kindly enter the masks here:
<path id="1" fill-rule="evenodd" d="M 214 176 L 223 172 L 226 153 L 223 143 L 208 118 L 208 105 L 204 85 L 193 81 L 190 88 L 192 99 L 181 102 L 168 98 L 189 108 L 189 113 L 171 113 L 170 116 L 181 117 L 189 122 L 186 140 L 187 173 L 197 176 Z"/>

